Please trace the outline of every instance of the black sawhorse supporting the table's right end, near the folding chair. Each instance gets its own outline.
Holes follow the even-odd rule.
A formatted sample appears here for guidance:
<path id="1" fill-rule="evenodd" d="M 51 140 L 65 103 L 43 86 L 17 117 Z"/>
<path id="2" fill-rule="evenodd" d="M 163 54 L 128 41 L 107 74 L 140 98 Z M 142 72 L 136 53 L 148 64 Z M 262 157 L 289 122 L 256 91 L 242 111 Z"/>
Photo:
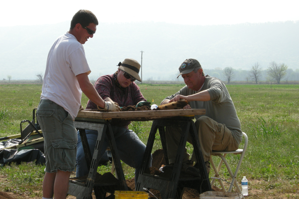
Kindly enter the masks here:
<path id="1" fill-rule="evenodd" d="M 162 199 L 181 198 L 184 187 L 197 189 L 199 193 L 212 190 L 211 184 L 209 182 L 208 173 L 205 168 L 205 163 L 202 157 L 197 131 L 192 120 L 193 118 L 194 117 L 175 117 L 172 119 L 159 119 L 153 121 L 136 190 L 143 191 L 143 188 L 158 190 L 161 194 Z M 170 178 L 162 178 L 159 176 L 153 176 L 148 173 L 145 173 L 145 170 L 147 169 L 146 165 L 148 165 L 149 156 L 151 154 L 157 129 L 159 129 L 165 160 L 168 164 L 164 130 L 165 126 L 180 127 L 182 129 L 180 144 L 178 146 L 176 160 L 173 165 L 173 170 Z M 182 155 L 186 146 L 188 133 L 190 133 L 193 142 L 193 153 L 196 154 L 198 163 L 201 166 L 200 174 L 202 178 L 180 178 L 180 171 L 183 159 Z"/>

